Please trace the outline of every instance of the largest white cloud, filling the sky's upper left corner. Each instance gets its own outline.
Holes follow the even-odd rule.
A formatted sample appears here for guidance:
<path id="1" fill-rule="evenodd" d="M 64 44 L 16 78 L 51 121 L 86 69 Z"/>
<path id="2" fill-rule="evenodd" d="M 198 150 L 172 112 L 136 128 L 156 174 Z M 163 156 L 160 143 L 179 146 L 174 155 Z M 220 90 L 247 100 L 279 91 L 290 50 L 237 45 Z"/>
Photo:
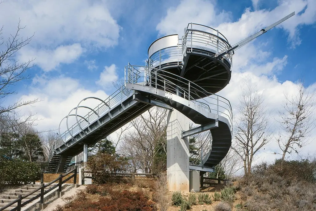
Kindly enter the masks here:
<path id="1" fill-rule="evenodd" d="M 45 70 L 54 69 L 60 63 L 73 62 L 82 53 L 69 52 L 66 46 L 78 44 L 89 51 L 117 45 L 121 28 L 112 18 L 106 3 L 100 1 L 3 1 L 0 19 L 4 24 L 4 37 L 15 32 L 19 18 L 21 26 L 26 26 L 20 32 L 21 36 L 31 36 L 35 32 L 27 46 L 30 53 L 23 51 L 19 59 L 27 60 L 35 54 L 35 62 Z M 44 65 L 52 54 L 55 58 Z"/>

